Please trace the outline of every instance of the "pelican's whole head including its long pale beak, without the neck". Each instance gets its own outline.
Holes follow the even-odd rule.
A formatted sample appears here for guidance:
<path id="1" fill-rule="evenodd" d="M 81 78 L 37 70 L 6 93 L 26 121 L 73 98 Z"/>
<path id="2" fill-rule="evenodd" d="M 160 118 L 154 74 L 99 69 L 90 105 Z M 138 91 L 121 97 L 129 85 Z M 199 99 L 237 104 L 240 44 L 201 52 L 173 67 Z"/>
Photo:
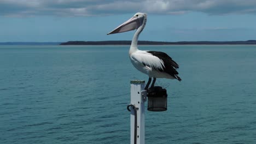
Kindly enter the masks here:
<path id="1" fill-rule="evenodd" d="M 123 33 L 127 31 L 132 31 L 134 29 L 138 29 L 140 26 L 145 25 L 146 21 L 147 21 L 146 13 L 136 13 L 131 17 L 131 19 L 127 20 L 122 25 L 118 26 L 108 34 Z"/>

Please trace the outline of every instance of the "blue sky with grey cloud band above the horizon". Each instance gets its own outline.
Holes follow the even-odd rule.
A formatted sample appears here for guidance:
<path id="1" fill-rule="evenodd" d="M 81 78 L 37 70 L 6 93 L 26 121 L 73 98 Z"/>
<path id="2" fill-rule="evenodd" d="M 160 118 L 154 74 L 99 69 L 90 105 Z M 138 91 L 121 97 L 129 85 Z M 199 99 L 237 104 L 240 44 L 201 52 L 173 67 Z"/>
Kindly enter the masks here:
<path id="1" fill-rule="evenodd" d="M 256 39 L 255 0 L 0 0 L 0 42 L 131 40 L 108 32 L 147 13 L 139 40 Z"/>

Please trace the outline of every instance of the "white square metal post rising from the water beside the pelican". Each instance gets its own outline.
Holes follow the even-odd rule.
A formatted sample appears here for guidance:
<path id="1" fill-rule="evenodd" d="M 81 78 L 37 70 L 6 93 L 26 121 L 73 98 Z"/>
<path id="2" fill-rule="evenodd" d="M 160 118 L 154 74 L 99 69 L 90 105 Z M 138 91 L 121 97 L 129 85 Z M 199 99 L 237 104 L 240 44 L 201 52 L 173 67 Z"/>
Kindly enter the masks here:
<path id="1" fill-rule="evenodd" d="M 144 85 L 145 81 L 131 81 L 131 144 L 145 143 L 144 102 L 147 91 Z"/>

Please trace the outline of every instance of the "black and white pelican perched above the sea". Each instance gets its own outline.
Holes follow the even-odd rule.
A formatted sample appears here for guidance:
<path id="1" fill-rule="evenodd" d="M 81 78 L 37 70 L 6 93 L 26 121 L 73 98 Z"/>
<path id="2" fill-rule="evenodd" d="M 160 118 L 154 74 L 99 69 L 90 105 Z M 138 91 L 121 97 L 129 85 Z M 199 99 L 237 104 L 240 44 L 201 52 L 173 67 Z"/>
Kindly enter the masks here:
<path id="1" fill-rule="evenodd" d="M 145 90 L 148 90 L 152 77 L 153 82 L 150 89 L 154 87 L 156 78 L 177 79 L 178 81 L 181 81 L 181 78 L 178 76 L 178 71 L 176 70 L 179 68 L 179 65 L 166 53 L 160 51 L 138 50 L 138 37 L 146 26 L 146 22 L 147 14 L 136 13 L 131 19 L 127 20 L 108 34 L 122 33 L 137 29 L 132 38 L 129 56 L 133 66 L 149 76 Z"/>

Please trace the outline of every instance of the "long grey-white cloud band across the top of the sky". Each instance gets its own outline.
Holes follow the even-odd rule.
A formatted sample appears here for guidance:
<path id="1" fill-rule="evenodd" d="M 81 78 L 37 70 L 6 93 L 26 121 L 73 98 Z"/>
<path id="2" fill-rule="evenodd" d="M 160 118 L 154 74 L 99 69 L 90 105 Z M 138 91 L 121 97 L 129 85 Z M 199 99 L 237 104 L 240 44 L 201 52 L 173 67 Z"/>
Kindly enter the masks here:
<path id="1" fill-rule="evenodd" d="M 94 16 L 143 11 L 151 14 L 256 14 L 255 0 L 0 0 L 2 16 Z"/>

